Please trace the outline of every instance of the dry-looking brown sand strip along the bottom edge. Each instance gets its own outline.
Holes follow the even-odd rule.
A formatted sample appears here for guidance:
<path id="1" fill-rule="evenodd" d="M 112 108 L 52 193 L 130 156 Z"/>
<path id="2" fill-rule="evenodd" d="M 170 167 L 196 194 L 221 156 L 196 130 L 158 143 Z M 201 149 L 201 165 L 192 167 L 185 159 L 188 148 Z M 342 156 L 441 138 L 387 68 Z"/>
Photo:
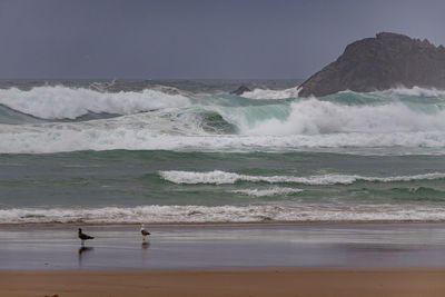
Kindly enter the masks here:
<path id="1" fill-rule="evenodd" d="M 0 296 L 445 296 L 445 267 L 0 271 Z"/>

